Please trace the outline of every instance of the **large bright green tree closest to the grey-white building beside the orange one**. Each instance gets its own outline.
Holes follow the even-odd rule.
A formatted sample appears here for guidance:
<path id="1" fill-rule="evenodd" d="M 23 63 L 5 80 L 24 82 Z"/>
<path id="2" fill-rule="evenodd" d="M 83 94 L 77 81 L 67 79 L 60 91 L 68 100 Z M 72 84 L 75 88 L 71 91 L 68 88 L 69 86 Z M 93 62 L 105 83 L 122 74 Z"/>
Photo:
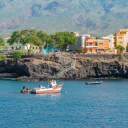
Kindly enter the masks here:
<path id="1" fill-rule="evenodd" d="M 56 32 L 55 40 L 57 45 L 59 47 L 64 48 L 65 51 L 68 45 L 77 44 L 77 38 L 72 33 L 69 32 Z"/>

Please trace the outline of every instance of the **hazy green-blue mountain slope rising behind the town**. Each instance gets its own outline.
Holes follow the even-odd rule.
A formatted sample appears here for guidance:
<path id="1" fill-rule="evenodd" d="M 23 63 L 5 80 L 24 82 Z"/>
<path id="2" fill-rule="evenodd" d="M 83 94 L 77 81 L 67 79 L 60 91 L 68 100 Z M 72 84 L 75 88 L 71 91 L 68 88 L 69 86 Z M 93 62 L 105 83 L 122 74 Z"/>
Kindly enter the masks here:
<path id="1" fill-rule="evenodd" d="M 37 29 L 105 36 L 128 28 L 127 0 L 0 0 L 0 34 Z"/>

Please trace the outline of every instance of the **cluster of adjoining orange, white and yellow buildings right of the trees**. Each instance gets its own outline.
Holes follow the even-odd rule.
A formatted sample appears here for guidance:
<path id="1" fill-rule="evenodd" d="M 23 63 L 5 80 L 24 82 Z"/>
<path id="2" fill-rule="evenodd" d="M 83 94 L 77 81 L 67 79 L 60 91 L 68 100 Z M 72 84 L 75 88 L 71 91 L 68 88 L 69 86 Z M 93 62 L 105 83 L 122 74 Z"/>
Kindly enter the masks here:
<path id="1" fill-rule="evenodd" d="M 117 53 L 115 47 L 121 45 L 125 48 L 124 52 L 128 52 L 128 29 L 120 29 L 119 33 L 110 34 L 101 39 L 91 37 L 90 34 L 79 35 L 77 32 L 73 33 L 78 40 L 77 45 L 69 46 L 69 50 L 82 48 L 84 53 Z"/>

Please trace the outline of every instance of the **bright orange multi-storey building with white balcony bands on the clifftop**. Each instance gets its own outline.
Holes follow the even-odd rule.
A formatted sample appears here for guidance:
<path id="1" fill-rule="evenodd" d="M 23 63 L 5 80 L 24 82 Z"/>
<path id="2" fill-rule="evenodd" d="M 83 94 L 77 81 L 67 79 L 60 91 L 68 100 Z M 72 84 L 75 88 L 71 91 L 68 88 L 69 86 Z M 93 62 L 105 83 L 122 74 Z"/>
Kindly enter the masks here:
<path id="1" fill-rule="evenodd" d="M 109 39 L 96 39 L 89 37 L 84 42 L 83 52 L 85 53 L 102 53 L 109 52 Z"/>

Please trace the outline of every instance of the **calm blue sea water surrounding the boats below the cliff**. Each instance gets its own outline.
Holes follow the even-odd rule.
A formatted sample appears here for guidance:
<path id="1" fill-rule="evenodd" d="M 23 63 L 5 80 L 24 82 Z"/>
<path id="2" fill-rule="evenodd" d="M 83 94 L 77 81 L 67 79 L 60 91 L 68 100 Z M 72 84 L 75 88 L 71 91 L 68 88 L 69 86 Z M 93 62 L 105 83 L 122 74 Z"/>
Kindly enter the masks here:
<path id="1" fill-rule="evenodd" d="M 39 95 L 20 90 L 46 81 L 0 80 L 0 128 L 127 128 L 128 80 L 85 81 L 58 81 L 61 93 Z"/>

